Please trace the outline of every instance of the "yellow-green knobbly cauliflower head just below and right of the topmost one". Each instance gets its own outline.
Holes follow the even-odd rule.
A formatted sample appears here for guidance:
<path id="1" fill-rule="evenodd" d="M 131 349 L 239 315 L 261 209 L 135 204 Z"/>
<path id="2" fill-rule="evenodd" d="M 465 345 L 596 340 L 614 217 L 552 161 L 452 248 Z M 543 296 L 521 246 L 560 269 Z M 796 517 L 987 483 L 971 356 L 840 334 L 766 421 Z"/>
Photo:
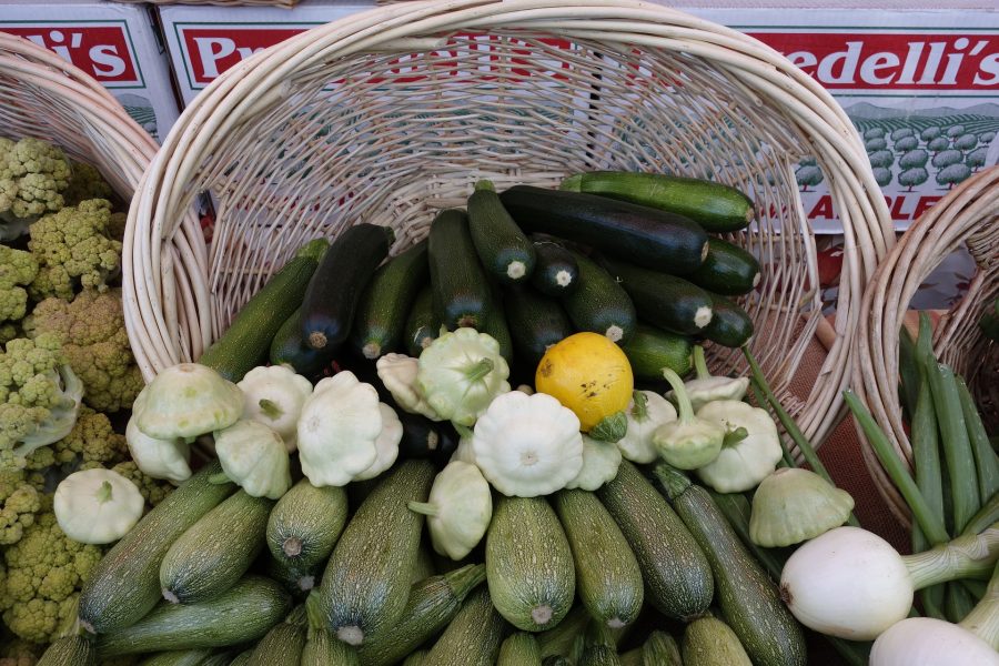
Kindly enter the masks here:
<path id="1" fill-rule="evenodd" d="M 88 199 L 31 225 L 28 249 L 38 260 L 38 276 L 28 289 L 36 301 L 67 301 L 83 289 L 105 291 L 121 268 L 121 243 L 112 240 L 111 203 Z"/>

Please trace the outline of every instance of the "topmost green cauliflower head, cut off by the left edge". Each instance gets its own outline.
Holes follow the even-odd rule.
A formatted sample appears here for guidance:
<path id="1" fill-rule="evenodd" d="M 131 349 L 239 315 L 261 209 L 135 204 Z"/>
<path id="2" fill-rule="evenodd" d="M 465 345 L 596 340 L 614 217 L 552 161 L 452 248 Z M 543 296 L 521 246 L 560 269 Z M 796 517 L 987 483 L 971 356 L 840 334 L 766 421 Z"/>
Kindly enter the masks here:
<path id="1" fill-rule="evenodd" d="M 39 215 L 64 204 L 70 163 L 59 148 L 38 139 L 0 137 L 0 240 L 24 233 Z"/>

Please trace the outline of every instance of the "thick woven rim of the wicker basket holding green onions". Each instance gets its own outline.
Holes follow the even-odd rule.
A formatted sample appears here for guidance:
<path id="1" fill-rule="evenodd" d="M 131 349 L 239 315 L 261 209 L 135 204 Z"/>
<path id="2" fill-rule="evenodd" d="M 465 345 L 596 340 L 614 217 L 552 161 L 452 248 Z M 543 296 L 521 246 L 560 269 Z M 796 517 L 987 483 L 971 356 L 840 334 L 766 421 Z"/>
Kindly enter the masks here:
<path id="1" fill-rule="evenodd" d="M 881 425 L 910 472 L 912 447 L 901 422 L 897 389 L 899 344 L 895 332 L 926 275 L 962 245 L 982 219 L 996 215 L 999 215 L 999 165 L 973 174 L 914 222 L 885 256 L 865 291 L 857 333 L 858 353 L 852 360 L 854 376 L 857 377 L 852 391 Z M 961 299 L 948 312 L 957 312 L 963 304 L 965 299 Z M 940 330 L 934 333 L 936 354 L 941 352 L 939 333 Z M 854 425 L 864 463 L 878 492 L 895 517 L 908 528 L 912 518 L 905 498 L 891 483 L 856 420 Z"/>

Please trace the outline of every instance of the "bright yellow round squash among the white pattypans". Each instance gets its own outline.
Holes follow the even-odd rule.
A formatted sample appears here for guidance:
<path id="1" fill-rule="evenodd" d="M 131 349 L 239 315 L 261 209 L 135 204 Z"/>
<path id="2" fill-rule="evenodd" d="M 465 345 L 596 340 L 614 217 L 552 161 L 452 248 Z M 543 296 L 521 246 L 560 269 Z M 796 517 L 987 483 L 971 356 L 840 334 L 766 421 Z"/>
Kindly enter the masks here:
<path id="1" fill-rule="evenodd" d="M 627 408 L 635 380 L 619 346 L 598 333 L 575 333 L 548 347 L 534 384 L 572 410 L 588 433 Z"/>

